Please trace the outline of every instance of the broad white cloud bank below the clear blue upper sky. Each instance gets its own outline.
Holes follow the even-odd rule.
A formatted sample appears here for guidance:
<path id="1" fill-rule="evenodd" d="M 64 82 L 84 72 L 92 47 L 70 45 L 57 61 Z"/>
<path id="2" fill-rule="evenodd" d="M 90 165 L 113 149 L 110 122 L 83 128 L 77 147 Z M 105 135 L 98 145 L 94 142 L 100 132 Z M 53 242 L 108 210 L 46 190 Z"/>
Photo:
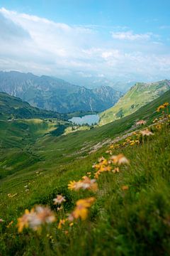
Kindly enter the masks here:
<path id="1" fill-rule="evenodd" d="M 70 26 L 1 8 L 0 70 L 55 75 L 77 84 L 94 77 L 169 78 L 170 49 L 157 36 L 118 29 Z"/>

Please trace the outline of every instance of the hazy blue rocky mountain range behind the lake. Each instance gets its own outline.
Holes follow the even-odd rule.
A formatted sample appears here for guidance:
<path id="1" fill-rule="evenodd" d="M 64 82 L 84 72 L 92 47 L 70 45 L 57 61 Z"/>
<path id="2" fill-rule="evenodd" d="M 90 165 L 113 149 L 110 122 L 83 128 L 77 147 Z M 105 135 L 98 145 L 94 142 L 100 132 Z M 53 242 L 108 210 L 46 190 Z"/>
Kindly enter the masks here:
<path id="1" fill-rule="evenodd" d="M 58 78 L 16 71 L 0 72 L 0 91 L 20 97 L 35 107 L 60 113 L 101 112 L 113 106 L 122 95 L 108 86 L 91 90 Z"/>

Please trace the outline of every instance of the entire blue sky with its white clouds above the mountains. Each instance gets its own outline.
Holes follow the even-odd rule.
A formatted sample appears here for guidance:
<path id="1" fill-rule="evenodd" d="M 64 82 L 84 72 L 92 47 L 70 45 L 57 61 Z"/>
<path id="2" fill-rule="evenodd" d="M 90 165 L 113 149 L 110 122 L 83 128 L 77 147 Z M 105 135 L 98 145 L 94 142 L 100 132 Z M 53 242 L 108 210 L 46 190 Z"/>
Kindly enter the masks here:
<path id="1" fill-rule="evenodd" d="M 78 85 L 170 78 L 169 0 L 0 0 L 0 70 Z"/>

